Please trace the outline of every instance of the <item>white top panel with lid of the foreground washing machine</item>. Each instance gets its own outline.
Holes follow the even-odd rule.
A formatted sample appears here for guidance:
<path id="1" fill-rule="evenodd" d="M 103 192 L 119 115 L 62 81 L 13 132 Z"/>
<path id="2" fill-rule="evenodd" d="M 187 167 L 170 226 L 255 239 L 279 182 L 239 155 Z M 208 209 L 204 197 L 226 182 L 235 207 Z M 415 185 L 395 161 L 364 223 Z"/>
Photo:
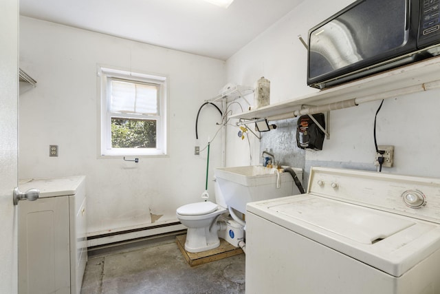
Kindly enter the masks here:
<path id="1" fill-rule="evenodd" d="M 440 249 L 439 224 L 311 194 L 247 211 L 395 277 Z"/>

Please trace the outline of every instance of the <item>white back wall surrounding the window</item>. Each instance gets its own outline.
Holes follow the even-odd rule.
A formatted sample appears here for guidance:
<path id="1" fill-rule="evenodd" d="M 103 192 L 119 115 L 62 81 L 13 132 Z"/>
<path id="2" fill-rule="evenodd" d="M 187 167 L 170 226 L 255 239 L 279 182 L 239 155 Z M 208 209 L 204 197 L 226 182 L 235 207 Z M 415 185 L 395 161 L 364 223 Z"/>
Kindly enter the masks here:
<path id="1" fill-rule="evenodd" d="M 98 155 L 98 64 L 168 76 L 168 157 L 124 162 Z M 205 107 L 225 83 L 224 61 L 63 25 L 20 18 L 20 66 L 37 81 L 20 96 L 19 176 L 87 176 L 89 234 L 177 221 L 175 209 L 201 200 L 206 151 L 221 116 Z M 59 156 L 49 157 L 49 145 Z M 210 150 L 210 178 L 221 165 L 221 134 Z M 210 195 L 214 195 L 212 182 Z"/>

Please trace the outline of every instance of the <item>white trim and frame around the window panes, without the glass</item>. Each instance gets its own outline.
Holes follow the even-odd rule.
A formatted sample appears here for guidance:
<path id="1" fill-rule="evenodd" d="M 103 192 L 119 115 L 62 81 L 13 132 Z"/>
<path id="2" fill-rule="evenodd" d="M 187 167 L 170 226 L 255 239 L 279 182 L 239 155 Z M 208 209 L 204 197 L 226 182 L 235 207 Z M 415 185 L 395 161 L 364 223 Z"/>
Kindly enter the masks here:
<path id="1" fill-rule="evenodd" d="M 142 83 L 153 83 L 159 85 L 159 116 L 148 116 L 157 119 L 156 148 L 111 148 L 111 113 L 108 111 L 108 92 L 109 78 L 122 78 L 128 81 L 138 81 Z M 100 142 L 98 144 L 99 155 L 106 156 L 166 156 L 168 144 L 168 95 L 167 95 L 166 76 L 153 74 L 143 74 L 120 70 L 98 65 L 98 99 L 100 114 L 98 132 L 100 132 Z M 139 118 L 131 114 L 115 115 L 121 118 Z"/>

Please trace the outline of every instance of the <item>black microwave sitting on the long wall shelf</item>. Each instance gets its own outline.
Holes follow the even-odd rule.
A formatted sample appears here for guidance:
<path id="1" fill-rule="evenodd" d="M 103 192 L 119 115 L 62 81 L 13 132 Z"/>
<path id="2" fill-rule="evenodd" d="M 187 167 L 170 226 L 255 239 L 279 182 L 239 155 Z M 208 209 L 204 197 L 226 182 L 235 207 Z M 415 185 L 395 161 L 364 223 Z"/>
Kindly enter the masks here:
<path id="1" fill-rule="evenodd" d="M 440 0 L 358 0 L 309 30 L 307 85 L 325 89 L 440 54 Z"/>

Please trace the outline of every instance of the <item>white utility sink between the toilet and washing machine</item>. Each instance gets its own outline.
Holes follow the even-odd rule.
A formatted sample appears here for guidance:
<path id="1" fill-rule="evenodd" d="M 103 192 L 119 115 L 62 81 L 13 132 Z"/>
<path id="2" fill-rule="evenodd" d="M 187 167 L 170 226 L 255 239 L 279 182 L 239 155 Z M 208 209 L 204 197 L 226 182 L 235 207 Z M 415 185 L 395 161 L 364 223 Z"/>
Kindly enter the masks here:
<path id="1" fill-rule="evenodd" d="M 292 175 L 287 172 L 283 173 L 283 169 L 271 169 L 261 165 L 222 167 L 215 169 L 215 177 L 226 204 L 245 213 L 248 202 L 299 193 L 296 189 L 294 190 Z M 296 167 L 292 169 L 298 179 L 303 180 L 303 169 Z"/>

